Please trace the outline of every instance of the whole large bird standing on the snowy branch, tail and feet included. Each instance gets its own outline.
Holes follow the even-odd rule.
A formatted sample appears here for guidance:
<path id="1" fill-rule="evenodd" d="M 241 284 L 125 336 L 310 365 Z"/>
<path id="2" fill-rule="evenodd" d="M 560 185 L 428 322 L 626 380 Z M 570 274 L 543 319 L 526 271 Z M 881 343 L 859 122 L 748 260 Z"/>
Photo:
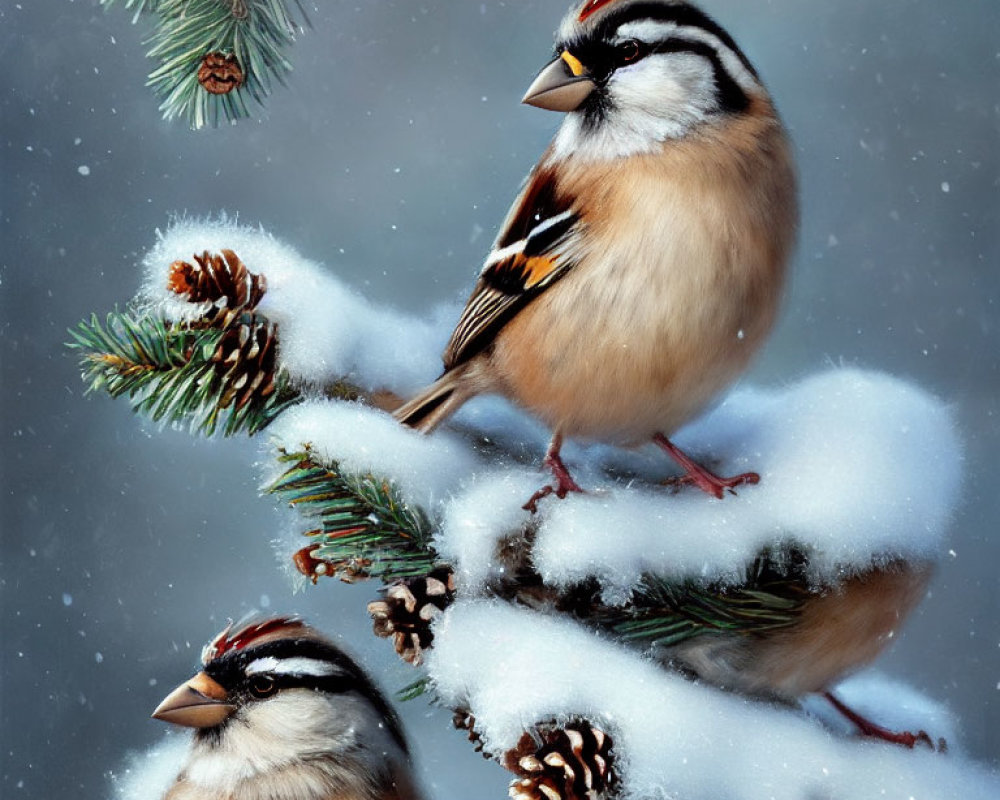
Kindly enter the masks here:
<path id="1" fill-rule="evenodd" d="M 681 482 L 722 478 L 667 436 L 747 366 L 797 226 L 792 156 L 753 65 L 681 0 L 586 0 L 525 103 L 566 112 L 486 259 L 444 374 L 396 411 L 429 431 L 499 393 L 553 432 L 532 501 L 580 491 L 563 437 L 653 439 Z"/>

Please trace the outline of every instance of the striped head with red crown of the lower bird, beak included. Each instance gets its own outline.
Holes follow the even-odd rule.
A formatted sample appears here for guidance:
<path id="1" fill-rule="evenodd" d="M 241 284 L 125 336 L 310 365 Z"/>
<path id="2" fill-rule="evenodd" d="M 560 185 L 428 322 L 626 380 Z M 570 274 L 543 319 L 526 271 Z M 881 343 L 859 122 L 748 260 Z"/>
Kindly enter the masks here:
<path id="1" fill-rule="evenodd" d="M 408 761 L 399 721 L 372 681 L 298 619 L 230 625 L 202 665 L 153 712 L 196 729 L 187 767 L 196 782 L 232 785 L 310 759 L 369 776 Z"/>

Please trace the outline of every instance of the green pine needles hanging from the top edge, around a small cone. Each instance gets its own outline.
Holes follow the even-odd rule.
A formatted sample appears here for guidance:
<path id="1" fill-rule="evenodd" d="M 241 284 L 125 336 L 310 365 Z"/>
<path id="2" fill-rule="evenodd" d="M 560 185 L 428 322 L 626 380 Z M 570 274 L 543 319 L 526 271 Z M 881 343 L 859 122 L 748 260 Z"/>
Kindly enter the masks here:
<path id="1" fill-rule="evenodd" d="M 101 0 L 108 7 L 122 0 Z M 147 85 L 163 99 L 164 119 L 183 117 L 193 128 L 250 116 L 249 101 L 263 105 L 275 81 L 285 82 L 292 65 L 286 57 L 307 17 L 295 0 L 124 0 L 134 19 L 155 18 L 148 57 L 159 66 Z M 228 94 L 212 94 L 198 82 L 209 53 L 235 55 L 243 83 Z"/>

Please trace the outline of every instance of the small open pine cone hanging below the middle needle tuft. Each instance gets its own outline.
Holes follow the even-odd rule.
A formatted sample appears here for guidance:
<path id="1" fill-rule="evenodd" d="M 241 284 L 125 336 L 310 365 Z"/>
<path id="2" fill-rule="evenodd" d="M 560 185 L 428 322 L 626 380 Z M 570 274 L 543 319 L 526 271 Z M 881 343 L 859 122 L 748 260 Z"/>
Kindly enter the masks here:
<path id="1" fill-rule="evenodd" d="M 455 575 L 439 567 L 422 578 L 396 581 L 383 590 L 384 600 L 368 604 L 375 635 L 392 637 L 404 661 L 419 666 L 434 641 L 431 622 L 455 599 Z"/>

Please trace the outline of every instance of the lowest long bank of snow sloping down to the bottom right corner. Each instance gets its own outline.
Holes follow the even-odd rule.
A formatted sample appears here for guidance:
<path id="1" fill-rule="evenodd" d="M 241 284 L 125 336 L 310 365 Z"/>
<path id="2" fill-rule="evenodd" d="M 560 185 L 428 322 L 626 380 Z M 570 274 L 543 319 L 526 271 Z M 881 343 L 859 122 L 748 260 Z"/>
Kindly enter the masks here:
<path id="1" fill-rule="evenodd" d="M 995 775 L 953 754 L 841 738 L 796 710 L 667 674 L 565 620 L 473 600 L 452 606 L 435 637 L 435 688 L 472 709 L 489 752 L 535 723 L 584 717 L 614 740 L 625 800 L 1000 796 Z M 883 683 L 866 710 L 912 697 Z M 938 735 L 934 717 L 911 708 L 906 721 Z"/>

